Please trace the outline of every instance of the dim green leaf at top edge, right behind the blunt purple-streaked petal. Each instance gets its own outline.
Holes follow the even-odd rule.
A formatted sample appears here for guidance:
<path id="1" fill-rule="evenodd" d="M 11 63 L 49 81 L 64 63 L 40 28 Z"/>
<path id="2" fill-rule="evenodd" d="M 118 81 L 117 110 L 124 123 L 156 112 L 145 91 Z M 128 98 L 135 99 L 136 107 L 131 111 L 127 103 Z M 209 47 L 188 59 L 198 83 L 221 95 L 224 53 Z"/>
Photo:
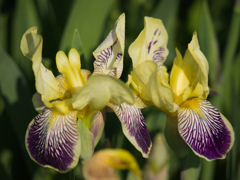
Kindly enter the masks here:
<path id="1" fill-rule="evenodd" d="M 165 61 L 166 66 L 172 65 L 175 57 L 175 35 L 177 30 L 177 13 L 179 0 L 162 0 L 152 13 L 152 17 L 159 18 L 168 32 L 168 60 Z"/>

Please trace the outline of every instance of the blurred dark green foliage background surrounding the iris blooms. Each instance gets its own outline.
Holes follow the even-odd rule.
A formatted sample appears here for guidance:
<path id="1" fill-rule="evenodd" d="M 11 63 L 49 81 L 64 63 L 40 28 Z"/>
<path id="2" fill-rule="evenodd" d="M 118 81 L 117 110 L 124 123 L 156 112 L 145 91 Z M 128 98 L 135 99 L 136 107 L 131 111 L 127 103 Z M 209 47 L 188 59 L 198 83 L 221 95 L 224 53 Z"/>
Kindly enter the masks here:
<path id="1" fill-rule="evenodd" d="M 57 74 L 55 55 L 77 47 L 82 67 L 93 70 L 92 52 L 113 28 L 118 16 L 126 14 L 124 71 L 127 81 L 131 59 L 129 45 L 143 29 L 143 17 L 162 19 L 169 35 L 170 51 L 165 65 L 171 70 L 175 47 L 182 54 L 194 31 L 209 61 L 209 100 L 231 122 L 235 144 L 224 160 L 206 162 L 195 156 L 179 159 L 170 153 L 168 179 L 240 179 L 240 1 L 234 0 L 0 0 L 0 179 L 82 179 L 81 162 L 73 172 L 60 174 L 40 167 L 25 149 L 25 132 L 37 115 L 31 98 L 35 93 L 31 61 L 20 51 L 20 40 L 31 26 L 43 36 L 43 63 Z M 75 29 L 79 33 L 74 33 Z M 76 37 L 78 43 L 76 45 Z M 152 140 L 164 132 L 166 116 L 155 107 L 143 109 Z M 111 147 L 129 150 L 142 168 L 146 159 L 128 142 L 114 113 L 107 114 L 103 137 Z M 161 159 L 163 154 L 159 153 Z M 194 164 L 195 163 L 195 164 Z M 183 166 L 184 165 L 184 166 Z M 160 171 L 160 170 L 159 170 Z M 185 174 L 185 175 L 184 175 Z M 120 173 L 122 179 L 127 172 Z"/>

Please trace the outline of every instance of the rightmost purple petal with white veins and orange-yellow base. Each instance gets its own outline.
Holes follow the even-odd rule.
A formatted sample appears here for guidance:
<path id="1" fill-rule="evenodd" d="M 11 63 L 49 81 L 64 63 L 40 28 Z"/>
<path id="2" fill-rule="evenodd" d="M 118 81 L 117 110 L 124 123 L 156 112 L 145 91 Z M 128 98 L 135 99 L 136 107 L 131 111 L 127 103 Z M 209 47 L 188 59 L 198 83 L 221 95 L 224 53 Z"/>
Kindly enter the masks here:
<path id="1" fill-rule="evenodd" d="M 188 100 L 178 110 L 178 130 L 195 154 L 206 160 L 223 159 L 232 148 L 229 121 L 206 100 Z"/>

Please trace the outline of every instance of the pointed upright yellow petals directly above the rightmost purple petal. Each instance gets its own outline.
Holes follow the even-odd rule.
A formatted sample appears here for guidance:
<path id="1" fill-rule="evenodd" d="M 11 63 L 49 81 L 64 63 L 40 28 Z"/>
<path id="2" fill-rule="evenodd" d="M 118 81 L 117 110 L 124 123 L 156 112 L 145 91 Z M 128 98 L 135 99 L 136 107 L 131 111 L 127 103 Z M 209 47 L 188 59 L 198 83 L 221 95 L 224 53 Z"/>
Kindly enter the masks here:
<path id="1" fill-rule="evenodd" d="M 206 99 L 209 94 L 208 62 L 200 51 L 197 34 L 193 34 L 183 59 L 177 49 L 176 54 L 170 76 L 175 102 L 180 104 L 192 97 Z"/>

